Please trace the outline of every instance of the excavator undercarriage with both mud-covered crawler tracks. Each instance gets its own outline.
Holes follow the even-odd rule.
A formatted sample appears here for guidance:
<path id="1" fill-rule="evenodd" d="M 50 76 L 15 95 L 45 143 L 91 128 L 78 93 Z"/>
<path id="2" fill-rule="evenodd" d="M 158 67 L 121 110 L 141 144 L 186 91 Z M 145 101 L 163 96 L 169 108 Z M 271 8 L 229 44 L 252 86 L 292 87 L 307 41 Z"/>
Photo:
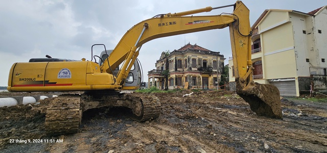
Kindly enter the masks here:
<path id="1" fill-rule="evenodd" d="M 45 129 L 48 135 L 77 133 L 83 112 L 92 108 L 126 107 L 131 119 L 143 122 L 159 117 L 161 105 L 155 96 L 138 93 L 110 92 L 105 94 L 84 93 L 82 95 L 60 95 L 50 103 L 45 115 Z M 106 92 L 108 93 L 108 92 Z"/>

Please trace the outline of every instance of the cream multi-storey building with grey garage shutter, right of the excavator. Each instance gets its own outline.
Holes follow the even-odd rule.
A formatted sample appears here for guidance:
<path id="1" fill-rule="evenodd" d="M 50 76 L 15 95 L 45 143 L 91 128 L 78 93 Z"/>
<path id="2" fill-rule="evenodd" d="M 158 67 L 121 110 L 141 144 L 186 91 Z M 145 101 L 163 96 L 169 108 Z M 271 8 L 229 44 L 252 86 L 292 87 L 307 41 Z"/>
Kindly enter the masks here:
<path id="1" fill-rule="evenodd" d="M 253 79 L 277 86 L 283 96 L 326 90 L 327 9 L 309 13 L 265 10 L 252 26 Z M 229 68 L 233 69 L 232 58 Z M 230 88 L 235 86 L 229 71 Z"/>

